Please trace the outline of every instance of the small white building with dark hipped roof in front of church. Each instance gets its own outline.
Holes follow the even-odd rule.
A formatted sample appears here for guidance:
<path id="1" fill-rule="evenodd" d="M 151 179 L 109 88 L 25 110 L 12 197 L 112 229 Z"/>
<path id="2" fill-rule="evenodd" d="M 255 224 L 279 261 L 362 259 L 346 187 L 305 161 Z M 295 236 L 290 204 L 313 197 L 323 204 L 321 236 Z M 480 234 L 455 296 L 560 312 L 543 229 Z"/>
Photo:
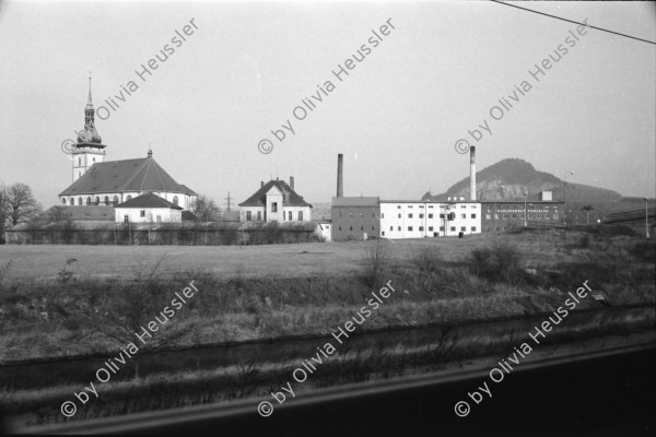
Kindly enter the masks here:
<path id="1" fill-rule="evenodd" d="M 183 208 L 147 192 L 114 206 L 116 223 L 181 223 Z"/>

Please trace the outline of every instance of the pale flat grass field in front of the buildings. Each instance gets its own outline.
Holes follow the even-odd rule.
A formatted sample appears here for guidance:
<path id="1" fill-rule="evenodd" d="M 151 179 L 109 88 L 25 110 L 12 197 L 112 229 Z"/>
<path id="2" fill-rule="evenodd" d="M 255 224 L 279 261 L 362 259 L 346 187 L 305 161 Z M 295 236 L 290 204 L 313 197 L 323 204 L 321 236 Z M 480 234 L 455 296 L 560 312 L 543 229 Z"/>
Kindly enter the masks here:
<path id="1" fill-rule="evenodd" d="M 554 234 L 555 235 L 555 234 Z M 549 233 L 519 234 L 503 237 L 485 234 L 459 239 L 425 238 L 385 240 L 390 259 L 402 262 L 422 247 L 440 250 L 445 261 L 462 259 L 472 249 L 503 238 L 517 246 L 526 262 L 550 265 L 562 261 L 562 253 Z M 308 243 L 267 246 L 0 246 L 0 265 L 13 260 L 13 280 L 51 280 L 68 259 L 77 259 L 78 277 L 131 279 L 136 271 L 153 265 L 165 256 L 162 272 L 207 270 L 219 276 L 238 272 L 246 277 L 301 277 L 315 274 L 343 275 L 361 270 L 363 250 L 371 241 Z"/>

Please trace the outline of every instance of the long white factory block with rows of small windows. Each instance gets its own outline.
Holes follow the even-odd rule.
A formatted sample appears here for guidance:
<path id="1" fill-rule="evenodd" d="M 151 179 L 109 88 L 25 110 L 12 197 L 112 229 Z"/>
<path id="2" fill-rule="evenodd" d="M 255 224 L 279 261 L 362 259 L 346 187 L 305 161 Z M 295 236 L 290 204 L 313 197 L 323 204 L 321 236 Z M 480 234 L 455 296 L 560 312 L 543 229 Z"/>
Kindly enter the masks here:
<path id="1" fill-rule="evenodd" d="M 380 201 L 380 237 L 422 238 L 480 234 L 481 206 L 476 201 Z"/>

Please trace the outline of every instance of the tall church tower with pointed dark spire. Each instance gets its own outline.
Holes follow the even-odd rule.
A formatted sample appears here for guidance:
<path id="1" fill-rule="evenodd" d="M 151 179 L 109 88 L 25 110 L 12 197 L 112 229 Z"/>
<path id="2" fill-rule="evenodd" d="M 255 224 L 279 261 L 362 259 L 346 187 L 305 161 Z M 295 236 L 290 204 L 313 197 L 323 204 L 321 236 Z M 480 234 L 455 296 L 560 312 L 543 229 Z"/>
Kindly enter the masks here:
<path id="1" fill-rule="evenodd" d="M 91 168 L 95 163 L 102 163 L 105 157 L 103 140 L 94 126 L 95 109 L 91 101 L 91 76 L 89 76 L 89 101 L 84 107 L 84 130 L 78 132 L 73 158 L 73 182 Z"/>

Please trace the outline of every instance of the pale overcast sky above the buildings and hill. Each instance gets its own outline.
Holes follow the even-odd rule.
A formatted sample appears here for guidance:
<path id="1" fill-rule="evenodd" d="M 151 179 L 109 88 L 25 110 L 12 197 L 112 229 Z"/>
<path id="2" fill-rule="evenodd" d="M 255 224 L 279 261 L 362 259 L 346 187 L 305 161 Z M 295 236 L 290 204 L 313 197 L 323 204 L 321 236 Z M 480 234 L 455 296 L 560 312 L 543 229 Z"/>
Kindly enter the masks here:
<path id="1" fill-rule="evenodd" d="M 520 5 L 656 40 L 653 2 Z M 176 47 L 190 20 L 198 28 Z M 572 182 L 655 196 L 656 46 L 591 29 L 536 81 L 529 71 L 567 48 L 569 31 L 576 25 L 492 2 L 3 1 L 0 180 L 57 203 L 71 184 L 60 144 L 83 128 L 91 70 L 96 110 L 108 97 L 119 105 L 105 120 L 96 113 L 105 160 L 145 156 L 150 143 L 178 182 L 220 203 L 277 176 L 329 202 L 338 153 L 345 196 L 438 193 L 468 176 L 458 139 L 477 144 L 479 169 L 518 157 L 561 178 L 573 169 Z M 371 52 L 337 79 L 365 44 Z M 165 45 L 175 51 L 139 79 Z M 129 81 L 138 90 L 124 103 L 114 96 Z M 512 108 L 494 120 L 502 97 Z M 298 120 L 303 98 L 316 107 Z M 280 142 L 271 130 L 288 120 L 294 134 L 284 129 Z M 484 120 L 491 134 L 477 143 L 468 130 Z M 271 153 L 258 151 L 262 139 Z"/>

